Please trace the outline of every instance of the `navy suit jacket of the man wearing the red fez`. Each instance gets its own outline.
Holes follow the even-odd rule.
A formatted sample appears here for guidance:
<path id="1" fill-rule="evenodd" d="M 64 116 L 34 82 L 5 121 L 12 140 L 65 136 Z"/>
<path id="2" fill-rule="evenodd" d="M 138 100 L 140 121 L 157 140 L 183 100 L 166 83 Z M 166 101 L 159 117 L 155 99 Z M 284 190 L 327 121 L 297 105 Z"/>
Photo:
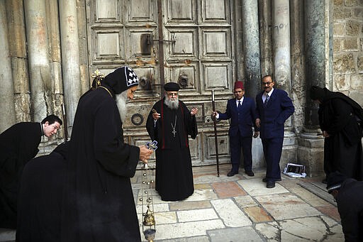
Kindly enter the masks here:
<path id="1" fill-rule="evenodd" d="M 250 97 L 244 97 L 242 106 L 238 110 L 235 99 L 229 99 L 224 114 L 219 114 L 219 119 L 230 119 L 229 136 L 252 137 L 252 126 L 255 126 L 256 109 L 255 101 Z M 255 131 L 258 131 L 255 126 Z"/>

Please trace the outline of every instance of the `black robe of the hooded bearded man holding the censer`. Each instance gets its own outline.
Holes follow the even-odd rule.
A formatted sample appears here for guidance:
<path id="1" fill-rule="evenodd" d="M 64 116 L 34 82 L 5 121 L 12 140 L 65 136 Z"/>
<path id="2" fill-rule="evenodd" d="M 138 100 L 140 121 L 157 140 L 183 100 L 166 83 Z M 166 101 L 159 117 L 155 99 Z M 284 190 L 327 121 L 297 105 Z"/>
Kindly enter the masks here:
<path id="1" fill-rule="evenodd" d="M 124 143 L 121 126 L 106 89 L 79 99 L 63 194 L 63 242 L 140 241 L 130 183 L 140 149 Z"/>

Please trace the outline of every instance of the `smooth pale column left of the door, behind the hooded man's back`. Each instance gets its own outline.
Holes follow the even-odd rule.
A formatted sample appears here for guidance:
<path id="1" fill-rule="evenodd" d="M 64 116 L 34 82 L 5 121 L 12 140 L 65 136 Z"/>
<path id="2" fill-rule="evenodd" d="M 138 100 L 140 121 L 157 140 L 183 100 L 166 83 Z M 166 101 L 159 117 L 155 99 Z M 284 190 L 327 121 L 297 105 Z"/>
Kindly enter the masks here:
<path id="1" fill-rule="evenodd" d="M 81 96 L 77 6 L 76 0 L 59 1 L 59 5 L 63 89 L 67 111 L 67 128 L 70 136 L 78 99 Z"/>

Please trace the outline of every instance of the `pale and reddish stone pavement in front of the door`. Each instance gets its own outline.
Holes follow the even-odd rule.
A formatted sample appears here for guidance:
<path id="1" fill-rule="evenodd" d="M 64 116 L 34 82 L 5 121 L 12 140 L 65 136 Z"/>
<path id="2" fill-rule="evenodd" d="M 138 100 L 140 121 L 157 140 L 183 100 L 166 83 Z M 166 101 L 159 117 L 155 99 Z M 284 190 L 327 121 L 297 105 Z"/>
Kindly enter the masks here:
<path id="1" fill-rule="evenodd" d="M 227 177 L 229 170 L 230 165 L 220 165 L 217 177 L 215 165 L 194 167 L 194 194 L 181 202 L 163 202 L 152 189 L 154 241 L 344 241 L 336 204 L 322 177 L 282 175 L 276 187 L 267 189 L 264 170 L 255 170 L 255 177 L 243 172 Z M 132 179 L 141 232 L 143 173 L 138 170 Z M 0 241 L 14 241 L 14 235 L 0 229 Z"/>

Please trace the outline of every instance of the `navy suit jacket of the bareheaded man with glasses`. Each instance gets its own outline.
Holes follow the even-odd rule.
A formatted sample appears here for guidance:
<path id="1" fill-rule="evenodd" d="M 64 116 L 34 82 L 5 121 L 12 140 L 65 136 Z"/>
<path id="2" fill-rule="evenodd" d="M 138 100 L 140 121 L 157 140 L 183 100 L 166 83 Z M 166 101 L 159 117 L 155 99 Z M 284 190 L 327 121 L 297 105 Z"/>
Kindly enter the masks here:
<path id="1" fill-rule="evenodd" d="M 274 89 L 267 106 L 262 101 L 263 92 L 256 96 L 256 118 L 261 120 L 259 127 L 260 138 L 284 137 L 284 123 L 294 113 L 295 108 L 287 92 Z"/>

